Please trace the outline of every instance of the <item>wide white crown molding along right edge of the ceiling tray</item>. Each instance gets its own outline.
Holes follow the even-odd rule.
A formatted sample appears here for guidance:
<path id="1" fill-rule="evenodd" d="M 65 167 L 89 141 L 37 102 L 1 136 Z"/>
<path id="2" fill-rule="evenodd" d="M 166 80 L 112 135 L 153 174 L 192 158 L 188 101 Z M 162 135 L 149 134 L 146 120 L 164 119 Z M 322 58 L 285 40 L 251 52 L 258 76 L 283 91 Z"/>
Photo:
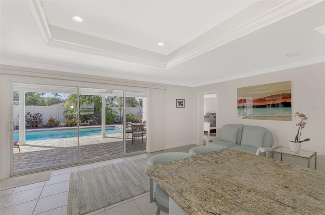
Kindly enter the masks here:
<path id="1" fill-rule="evenodd" d="M 249 20 L 246 23 L 243 23 L 242 25 L 239 25 L 233 28 L 232 30 L 223 33 L 219 37 L 216 37 L 213 40 L 210 40 L 209 42 L 202 44 L 201 46 L 198 46 L 197 48 L 194 48 L 191 51 L 168 61 L 167 68 L 176 66 L 194 57 L 200 56 L 206 52 L 216 49 L 224 44 L 230 43 L 238 38 L 244 37 L 245 35 L 253 31 L 261 29 L 283 18 L 305 10 L 322 1 L 323 0 L 285 1 L 283 4 L 279 5 L 276 8 L 273 8 L 272 10 L 262 14 L 261 16 Z"/>

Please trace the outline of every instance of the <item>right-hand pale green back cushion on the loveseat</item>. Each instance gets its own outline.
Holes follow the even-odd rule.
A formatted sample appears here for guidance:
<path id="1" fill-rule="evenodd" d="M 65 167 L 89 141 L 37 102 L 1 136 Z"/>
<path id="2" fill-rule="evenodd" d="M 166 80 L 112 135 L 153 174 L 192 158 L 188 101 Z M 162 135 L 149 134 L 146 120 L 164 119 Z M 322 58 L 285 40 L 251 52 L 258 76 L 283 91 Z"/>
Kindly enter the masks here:
<path id="1" fill-rule="evenodd" d="M 255 148 L 262 147 L 264 133 L 264 129 L 244 127 L 241 145 L 251 146 Z"/>

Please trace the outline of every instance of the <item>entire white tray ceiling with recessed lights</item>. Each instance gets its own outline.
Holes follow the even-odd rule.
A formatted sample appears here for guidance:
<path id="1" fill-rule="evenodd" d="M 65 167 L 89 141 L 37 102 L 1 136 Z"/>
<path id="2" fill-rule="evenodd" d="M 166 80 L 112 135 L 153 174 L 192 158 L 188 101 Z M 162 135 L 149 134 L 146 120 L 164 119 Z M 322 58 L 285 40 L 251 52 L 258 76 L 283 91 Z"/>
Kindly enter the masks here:
<path id="1" fill-rule="evenodd" d="M 1 63 L 201 86 L 323 62 L 325 36 L 314 29 L 325 25 L 324 8 L 323 1 L 1 1 Z"/>

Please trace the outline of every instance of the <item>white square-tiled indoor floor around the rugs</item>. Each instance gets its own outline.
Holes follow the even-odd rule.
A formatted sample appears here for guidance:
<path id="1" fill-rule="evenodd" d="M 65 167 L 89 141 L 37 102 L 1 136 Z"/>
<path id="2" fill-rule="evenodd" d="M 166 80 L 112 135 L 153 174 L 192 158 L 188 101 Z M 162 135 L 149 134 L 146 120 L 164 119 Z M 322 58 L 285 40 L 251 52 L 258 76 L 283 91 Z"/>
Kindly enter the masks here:
<path id="1" fill-rule="evenodd" d="M 189 145 L 155 153 L 143 153 L 91 164 L 73 166 L 52 171 L 49 181 L 0 191 L 0 214 L 4 215 L 60 215 L 67 214 L 70 173 L 112 163 L 151 157 L 162 152 L 188 152 L 197 145 Z M 148 182 L 149 183 L 149 182 Z M 155 203 L 149 203 L 149 192 L 112 204 L 88 214 L 155 214 Z M 160 213 L 164 215 L 163 211 Z"/>

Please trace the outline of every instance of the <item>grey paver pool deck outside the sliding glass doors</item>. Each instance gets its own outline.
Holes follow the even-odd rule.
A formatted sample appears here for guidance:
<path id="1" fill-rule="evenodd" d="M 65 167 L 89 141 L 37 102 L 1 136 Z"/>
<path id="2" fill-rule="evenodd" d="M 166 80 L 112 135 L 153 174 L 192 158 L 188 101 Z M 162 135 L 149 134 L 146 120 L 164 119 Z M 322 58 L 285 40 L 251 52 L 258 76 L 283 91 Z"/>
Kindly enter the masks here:
<path id="1" fill-rule="evenodd" d="M 39 129 L 33 130 L 39 131 Z M 132 145 L 132 133 L 129 133 L 129 138 L 126 138 L 126 153 L 145 151 L 146 137 L 143 141 L 142 145 L 142 139 L 136 138 Z M 14 172 L 76 163 L 77 142 L 78 137 L 27 141 L 25 145 L 20 145 L 20 153 L 17 148 L 14 148 Z M 122 157 L 124 156 L 123 133 L 107 134 L 106 137 L 102 135 L 79 137 L 79 151 L 80 163 Z"/>

